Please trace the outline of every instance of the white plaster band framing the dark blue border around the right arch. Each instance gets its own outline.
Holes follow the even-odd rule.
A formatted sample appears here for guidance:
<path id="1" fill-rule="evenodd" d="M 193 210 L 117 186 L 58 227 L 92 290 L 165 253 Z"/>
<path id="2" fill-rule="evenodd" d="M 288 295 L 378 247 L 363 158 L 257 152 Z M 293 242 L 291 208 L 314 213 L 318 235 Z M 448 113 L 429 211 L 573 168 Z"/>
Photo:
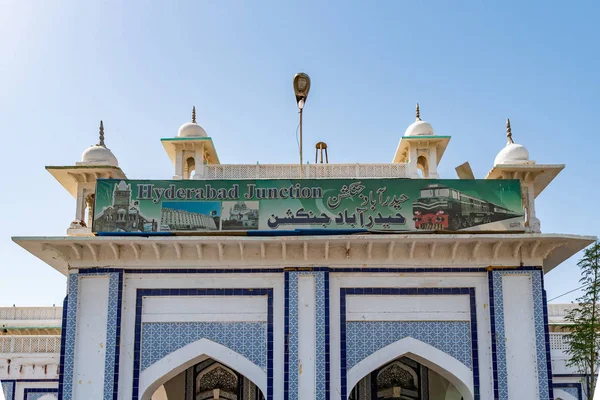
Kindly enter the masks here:
<path id="1" fill-rule="evenodd" d="M 481 398 L 493 398 L 492 355 L 490 340 L 489 291 L 486 273 L 339 273 L 330 274 L 330 334 L 331 334 L 331 393 L 340 393 L 340 288 L 418 288 L 472 287 L 475 288 L 477 339 Z M 350 298 L 351 296 L 348 296 Z M 410 296 L 408 296 L 410 297 Z M 409 300 L 410 301 L 410 300 Z M 438 300 L 439 301 L 439 300 Z M 460 300 L 457 300 L 460 301 Z M 350 302 L 350 305 L 352 302 Z M 359 315 L 360 310 L 348 308 L 347 314 Z M 445 305 L 439 303 L 440 309 Z M 392 310 L 393 311 L 393 310 Z M 460 320 L 460 319 L 459 319 Z M 382 361 L 384 364 L 384 361 Z M 350 384 L 350 382 L 348 382 Z M 348 393 L 352 388 L 348 386 Z M 471 387 L 471 390 L 473 388 Z"/>

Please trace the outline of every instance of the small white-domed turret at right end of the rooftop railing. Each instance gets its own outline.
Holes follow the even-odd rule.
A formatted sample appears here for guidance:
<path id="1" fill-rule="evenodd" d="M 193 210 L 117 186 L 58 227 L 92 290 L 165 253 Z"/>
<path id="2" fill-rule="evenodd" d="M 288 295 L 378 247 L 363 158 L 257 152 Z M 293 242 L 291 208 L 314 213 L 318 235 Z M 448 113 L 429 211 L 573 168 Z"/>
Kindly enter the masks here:
<path id="1" fill-rule="evenodd" d="M 429 122 L 421 119 L 417 103 L 415 122 L 404 132 L 394 163 L 405 163 L 412 178 L 439 178 L 437 166 L 446 151 L 450 136 L 437 136 Z"/>

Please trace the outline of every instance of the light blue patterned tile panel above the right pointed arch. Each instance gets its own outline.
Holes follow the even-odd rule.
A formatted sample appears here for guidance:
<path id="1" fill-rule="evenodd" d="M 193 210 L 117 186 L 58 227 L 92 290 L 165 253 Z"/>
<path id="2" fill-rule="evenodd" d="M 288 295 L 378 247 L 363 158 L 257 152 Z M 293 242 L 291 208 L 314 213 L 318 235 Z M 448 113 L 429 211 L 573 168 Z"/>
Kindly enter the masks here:
<path id="1" fill-rule="evenodd" d="M 377 350 L 406 337 L 427 343 L 473 368 L 471 326 L 466 321 L 348 322 L 346 367 L 350 369 Z"/>

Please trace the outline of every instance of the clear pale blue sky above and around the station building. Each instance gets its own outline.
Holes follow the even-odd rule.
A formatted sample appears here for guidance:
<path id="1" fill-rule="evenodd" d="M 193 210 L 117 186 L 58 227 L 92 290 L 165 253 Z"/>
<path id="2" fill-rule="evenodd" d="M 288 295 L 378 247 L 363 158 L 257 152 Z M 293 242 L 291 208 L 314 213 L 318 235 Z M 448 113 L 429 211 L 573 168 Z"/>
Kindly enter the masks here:
<path id="1" fill-rule="evenodd" d="M 305 157 L 389 162 L 414 104 L 452 140 L 442 177 L 484 177 L 514 138 L 566 169 L 544 232 L 597 235 L 600 8 L 593 2 L 0 2 L 0 305 L 61 303 L 65 278 L 10 237 L 63 235 L 74 199 L 44 170 L 97 142 L 131 178 L 173 175 L 159 142 L 190 119 L 223 163 L 297 160 L 296 72 L 312 78 Z M 547 276 L 578 286 L 576 257 Z M 562 300 L 571 300 L 572 296 Z"/>

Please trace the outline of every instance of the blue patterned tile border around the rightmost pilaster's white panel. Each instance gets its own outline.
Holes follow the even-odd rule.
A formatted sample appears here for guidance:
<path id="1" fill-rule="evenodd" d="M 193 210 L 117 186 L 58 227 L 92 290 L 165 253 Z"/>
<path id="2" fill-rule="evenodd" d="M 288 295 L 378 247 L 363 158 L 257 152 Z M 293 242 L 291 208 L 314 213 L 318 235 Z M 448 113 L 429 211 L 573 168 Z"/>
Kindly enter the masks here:
<path id="1" fill-rule="evenodd" d="M 493 291 L 493 320 L 492 335 L 495 336 L 496 351 L 492 354 L 496 359 L 497 377 L 497 398 L 508 399 L 508 373 L 506 367 L 506 334 L 504 329 L 504 299 L 502 276 L 508 274 L 519 274 L 531 276 L 533 293 L 533 318 L 535 327 L 535 346 L 537 355 L 537 376 L 538 392 L 540 399 L 549 398 L 552 377 L 548 376 L 547 349 L 546 349 L 546 322 L 544 318 L 544 299 L 542 290 L 542 271 L 541 270 L 514 270 L 514 271 L 493 271 L 492 272 L 492 291 Z M 491 305 L 492 306 L 492 305 Z M 492 349 L 493 350 L 493 349 Z"/>

